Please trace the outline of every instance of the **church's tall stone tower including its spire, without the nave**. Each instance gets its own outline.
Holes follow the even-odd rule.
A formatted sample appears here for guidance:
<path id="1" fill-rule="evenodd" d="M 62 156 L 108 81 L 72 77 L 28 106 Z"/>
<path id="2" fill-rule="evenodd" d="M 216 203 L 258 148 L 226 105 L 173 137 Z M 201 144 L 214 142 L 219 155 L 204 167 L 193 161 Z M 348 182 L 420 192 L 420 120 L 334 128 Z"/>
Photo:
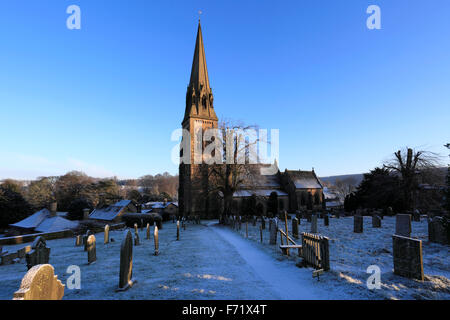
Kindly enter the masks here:
<path id="1" fill-rule="evenodd" d="M 197 40 L 195 43 L 194 60 L 192 62 L 191 78 L 186 92 L 186 109 L 182 127 L 190 133 L 190 150 L 182 149 L 190 154 L 189 163 L 180 163 L 179 167 L 179 211 L 180 214 L 208 216 L 212 211 L 210 195 L 208 194 L 208 174 L 206 164 L 199 164 L 194 157 L 195 131 L 205 131 L 218 127 L 218 119 L 214 111 L 214 97 L 209 84 L 208 68 L 206 67 L 205 48 L 203 46 L 202 28 L 198 22 Z M 186 139 L 186 137 L 183 137 Z M 182 145 L 184 145 L 182 143 Z M 202 143 L 202 152 L 204 144 Z M 198 158 L 197 158 L 198 159 Z M 205 170 L 206 169 L 206 170 Z"/>

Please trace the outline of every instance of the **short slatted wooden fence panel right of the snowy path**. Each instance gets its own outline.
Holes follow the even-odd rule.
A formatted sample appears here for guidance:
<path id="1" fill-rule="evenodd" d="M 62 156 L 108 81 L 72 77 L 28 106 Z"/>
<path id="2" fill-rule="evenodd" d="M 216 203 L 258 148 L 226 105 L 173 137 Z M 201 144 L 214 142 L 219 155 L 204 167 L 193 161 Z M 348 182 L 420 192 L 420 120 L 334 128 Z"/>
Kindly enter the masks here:
<path id="1" fill-rule="evenodd" d="M 302 233 L 303 261 L 316 269 L 330 270 L 328 238 L 311 233 Z"/>

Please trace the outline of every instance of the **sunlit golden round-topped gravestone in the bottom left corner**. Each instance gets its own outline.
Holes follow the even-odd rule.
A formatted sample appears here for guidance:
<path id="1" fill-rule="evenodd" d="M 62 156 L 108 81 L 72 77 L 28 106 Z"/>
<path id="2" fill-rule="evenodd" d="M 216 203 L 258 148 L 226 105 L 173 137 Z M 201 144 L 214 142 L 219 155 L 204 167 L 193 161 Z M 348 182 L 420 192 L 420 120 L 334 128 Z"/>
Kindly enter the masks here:
<path id="1" fill-rule="evenodd" d="M 53 266 L 39 264 L 25 274 L 13 300 L 61 300 L 63 296 L 64 285 L 55 276 Z"/>

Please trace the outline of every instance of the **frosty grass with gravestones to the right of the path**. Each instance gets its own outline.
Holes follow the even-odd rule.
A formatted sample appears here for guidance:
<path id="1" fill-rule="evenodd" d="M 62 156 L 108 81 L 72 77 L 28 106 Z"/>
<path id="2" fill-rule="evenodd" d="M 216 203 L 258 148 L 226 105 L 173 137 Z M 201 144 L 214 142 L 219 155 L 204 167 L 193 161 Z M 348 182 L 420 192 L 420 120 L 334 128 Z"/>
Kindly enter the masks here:
<path id="1" fill-rule="evenodd" d="M 372 218 L 364 217 L 364 232 L 354 233 L 353 217 L 330 218 L 327 227 L 322 219 L 318 219 L 318 233 L 330 239 L 331 271 L 320 280 L 324 290 L 336 291 L 338 296 L 346 292 L 355 299 L 450 299 L 450 247 L 428 242 L 426 218 L 422 218 L 421 222 L 413 221 L 411 233 L 413 238 L 422 240 L 424 282 L 393 274 L 392 235 L 395 232 L 395 217 L 385 217 L 381 223 L 381 228 L 372 228 Z M 259 225 L 258 222 L 254 227 L 249 222 L 250 241 L 260 242 Z M 282 256 L 278 247 L 279 235 L 277 246 L 269 245 L 268 225 L 266 223 L 260 247 L 273 254 L 274 258 L 299 262 L 301 258 L 296 257 L 296 250 L 291 250 L 289 258 Z M 288 226 L 291 233 L 291 220 L 288 220 Z M 279 227 L 285 230 L 284 221 L 279 222 Z M 299 233 L 310 230 L 311 223 L 302 219 Z M 245 237 L 245 223 L 241 230 L 234 232 Z M 292 238 L 292 234 L 290 236 Z M 377 265 L 381 269 L 382 285 L 379 290 L 367 289 L 369 274 L 366 270 L 370 265 Z"/>

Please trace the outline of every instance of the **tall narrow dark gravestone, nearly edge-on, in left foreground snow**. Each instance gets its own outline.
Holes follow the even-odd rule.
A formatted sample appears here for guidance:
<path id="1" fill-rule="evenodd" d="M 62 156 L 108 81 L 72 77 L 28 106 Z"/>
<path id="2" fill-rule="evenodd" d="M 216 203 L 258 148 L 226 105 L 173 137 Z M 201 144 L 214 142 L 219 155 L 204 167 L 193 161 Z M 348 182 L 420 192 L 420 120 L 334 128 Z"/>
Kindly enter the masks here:
<path id="1" fill-rule="evenodd" d="M 127 230 L 120 246 L 119 288 L 116 291 L 128 290 L 136 283 L 133 277 L 133 237 Z"/>

